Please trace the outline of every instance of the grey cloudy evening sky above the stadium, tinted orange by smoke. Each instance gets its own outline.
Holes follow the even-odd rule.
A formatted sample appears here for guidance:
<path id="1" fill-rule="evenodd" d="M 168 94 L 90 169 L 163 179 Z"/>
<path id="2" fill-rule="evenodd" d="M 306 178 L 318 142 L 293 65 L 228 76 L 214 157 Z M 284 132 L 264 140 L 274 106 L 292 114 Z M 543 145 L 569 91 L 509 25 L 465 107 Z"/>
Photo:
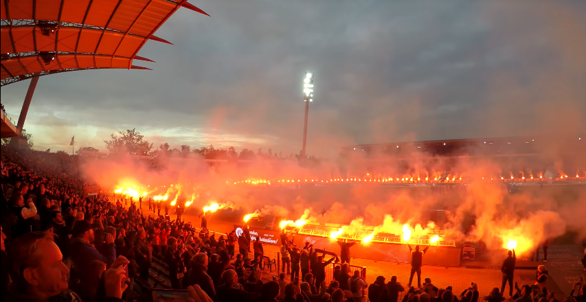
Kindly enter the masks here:
<path id="1" fill-rule="evenodd" d="M 430 139 L 586 129 L 586 1 L 204 0 L 135 61 L 153 69 L 44 76 L 25 122 L 37 149 L 105 150 L 136 128 L 155 146 L 302 145 L 308 154 Z M 18 117 L 29 81 L 3 86 Z"/>

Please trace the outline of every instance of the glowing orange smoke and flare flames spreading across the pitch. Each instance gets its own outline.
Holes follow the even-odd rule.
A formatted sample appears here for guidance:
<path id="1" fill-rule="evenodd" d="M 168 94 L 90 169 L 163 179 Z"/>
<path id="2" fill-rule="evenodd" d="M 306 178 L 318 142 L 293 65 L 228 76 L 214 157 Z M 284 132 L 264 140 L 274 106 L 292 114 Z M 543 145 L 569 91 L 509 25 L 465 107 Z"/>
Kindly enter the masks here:
<path id="1" fill-rule="evenodd" d="M 166 196 L 161 202 L 184 203 L 188 214 L 213 205 L 241 213 L 238 223 L 276 216 L 291 225 L 343 224 L 341 232 L 364 235 L 405 236 L 408 231 L 411 237 L 430 237 L 444 230 L 449 240 L 482 241 L 489 249 L 512 244 L 519 255 L 527 255 L 567 231 L 586 235 L 586 222 L 578 219 L 586 216 L 586 189 L 572 185 L 586 179 L 583 159 L 570 157 L 572 166 L 581 167 L 578 178 L 535 161 L 533 171 L 510 171 L 515 179 L 526 177 L 526 183 L 500 181 L 509 175 L 495 158 L 442 160 L 425 153 L 414 154 L 408 163 L 345 156 L 311 166 L 290 160 L 210 165 L 201 159 L 168 158 L 159 159 L 166 166 L 159 171 L 130 158 L 87 159 L 83 170 L 104 191 L 128 187 L 137 190 L 135 197 Z M 446 166 L 449 174 L 442 178 Z M 538 178 L 550 170 L 550 181 Z M 565 181 L 568 174 L 574 182 Z"/>

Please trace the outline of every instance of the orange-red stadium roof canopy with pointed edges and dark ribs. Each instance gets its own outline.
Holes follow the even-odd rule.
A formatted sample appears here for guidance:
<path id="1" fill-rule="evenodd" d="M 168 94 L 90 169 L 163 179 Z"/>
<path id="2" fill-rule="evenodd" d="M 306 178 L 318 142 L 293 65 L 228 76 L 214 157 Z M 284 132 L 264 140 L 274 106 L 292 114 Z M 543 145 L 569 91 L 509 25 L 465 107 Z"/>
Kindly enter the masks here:
<path id="1" fill-rule="evenodd" d="M 133 65 L 147 40 L 187 0 L 3 0 L 1 86 L 63 71 Z M 206 14 L 207 15 L 207 14 Z M 171 44 L 171 43 L 169 43 Z"/>

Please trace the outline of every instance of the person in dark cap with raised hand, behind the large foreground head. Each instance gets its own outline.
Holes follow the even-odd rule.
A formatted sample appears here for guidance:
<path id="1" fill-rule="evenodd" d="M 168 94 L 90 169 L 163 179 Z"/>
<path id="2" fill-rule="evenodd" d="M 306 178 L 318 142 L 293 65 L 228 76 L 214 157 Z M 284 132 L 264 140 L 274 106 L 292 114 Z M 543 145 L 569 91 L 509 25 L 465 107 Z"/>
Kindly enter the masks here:
<path id="1" fill-rule="evenodd" d="M 95 239 L 91 223 L 87 220 L 80 220 L 74 225 L 71 235 L 76 237 L 76 240 L 71 244 L 71 257 L 74 260 L 75 272 L 80 279 L 84 277 L 84 273 L 89 272 L 89 264 L 93 260 L 104 262 L 107 267 L 116 259 L 116 246 L 114 244 L 114 236 L 110 233 L 105 234 L 106 244 L 102 249 L 102 253 L 91 243 Z"/>

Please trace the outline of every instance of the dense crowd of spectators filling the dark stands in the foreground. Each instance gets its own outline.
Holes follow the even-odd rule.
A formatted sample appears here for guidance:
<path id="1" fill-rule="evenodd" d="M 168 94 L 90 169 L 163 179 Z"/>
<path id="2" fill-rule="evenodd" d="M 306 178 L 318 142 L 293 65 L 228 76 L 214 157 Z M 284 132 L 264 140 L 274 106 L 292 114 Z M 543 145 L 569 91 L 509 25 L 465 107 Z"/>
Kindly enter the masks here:
<path id="1" fill-rule="evenodd" d="M 185 301 L 479 300 L 476 284 L 461 294 L 437 288 L 429 278 L 418 287 L 383 276 L 368 285 L 348 263 L 336 265 L 334 280 L 326 284 L 325 268 L 337 257 L 326 260 L 311 244 L 300 248 L 286 240 L 281 248 L 286 272 L 283 266 L 278 278 L 263 277 L 262 243 L 251 244 L 234 232 L 195 229 L 168 213 L 158 215 L 150 201 L 147 209 L 142 199 L 88 196 L 76 156 L 43 153 L 2 148 L 2 301 L 152 301 L 144 285 L 155 259 L 166 264 L 170 288 L 187 290 Z M 253 259 L 247 257 L 250 248 Z M 556 302 L 546 288 L 545 267 L 536 280 L 534 286 L 515 284 L 511 299 Z M 584 302 L 583 287 L 574 288 L 576 302 Z M 484 300 L 506 299 L 495 288 Z"/>

